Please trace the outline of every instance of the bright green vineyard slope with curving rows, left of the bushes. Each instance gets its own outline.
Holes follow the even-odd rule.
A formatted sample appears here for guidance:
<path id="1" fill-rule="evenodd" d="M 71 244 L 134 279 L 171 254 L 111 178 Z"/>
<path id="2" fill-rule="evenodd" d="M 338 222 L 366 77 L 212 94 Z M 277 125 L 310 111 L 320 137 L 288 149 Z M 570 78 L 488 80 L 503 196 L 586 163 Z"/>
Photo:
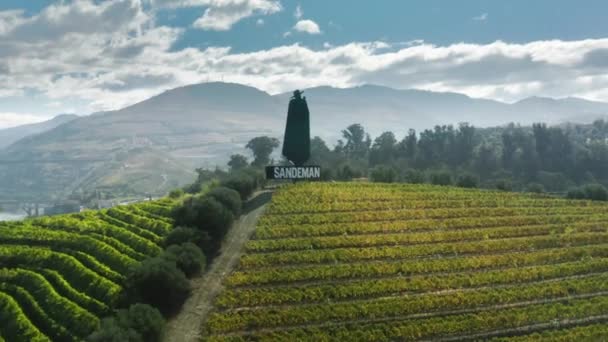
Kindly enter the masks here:
<path id="1" fill-rule="evenodd" d="M 127 269 L 161 252 L 173 200 L 0 223 L 0 341 L 80 341 Z"/>

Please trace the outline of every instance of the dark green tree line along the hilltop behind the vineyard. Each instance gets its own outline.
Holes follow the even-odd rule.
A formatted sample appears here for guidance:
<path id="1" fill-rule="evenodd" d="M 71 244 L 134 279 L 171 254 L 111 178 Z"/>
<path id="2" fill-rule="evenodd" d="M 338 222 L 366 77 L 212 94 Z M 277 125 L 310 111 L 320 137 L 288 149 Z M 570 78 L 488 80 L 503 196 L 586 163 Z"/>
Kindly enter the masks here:
<path id="1" fill-rule="evenodd" d="M 254 166 L 271 162 L 279 140 L 256 137 L 248 144 Z M 372 139 L 352 124 L 330 147 L 311 141 L 311 165 L 321 165 L 324 180 L 368 177 L 381 182 L 430 182 L 518 191 L 572 192 L 582 196 L 592 184 L 608 184 L 608 122 L 532 126 L 508 124 L 478 128 L 469 123 L 437 125 L 416 132 L 386 131 Z M 249 165 L 232 155 L 231 169 Z M 578 192 L 574 192 L 574 191 Z M 590 190 L 591 191 L 591 190 Z"/>

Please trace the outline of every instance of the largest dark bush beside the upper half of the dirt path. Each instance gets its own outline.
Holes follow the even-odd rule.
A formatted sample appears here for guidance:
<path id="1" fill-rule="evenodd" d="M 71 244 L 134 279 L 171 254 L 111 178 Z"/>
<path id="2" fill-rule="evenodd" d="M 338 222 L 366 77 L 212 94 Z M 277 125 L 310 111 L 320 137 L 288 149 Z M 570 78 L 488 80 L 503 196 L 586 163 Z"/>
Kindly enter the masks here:
<path id="1" fill-rule="evenodd" d="M 224 237 L 234 216 L 220 202 L 210 196 L 193 196 L 177 207 L 173 215 L 178 226 L 196 227 L 214 239 Z"/>

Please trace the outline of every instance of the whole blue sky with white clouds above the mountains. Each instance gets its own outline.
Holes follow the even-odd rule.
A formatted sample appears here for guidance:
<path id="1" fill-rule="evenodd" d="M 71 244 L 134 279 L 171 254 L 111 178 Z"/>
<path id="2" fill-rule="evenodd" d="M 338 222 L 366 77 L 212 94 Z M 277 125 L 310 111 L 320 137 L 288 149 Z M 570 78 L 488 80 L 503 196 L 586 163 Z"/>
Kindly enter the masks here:
<path id="1" fill-rule="evenodd" d="M 608 102 L 608 1 L 1 0 L 0 128 L 209 81 Z"/>

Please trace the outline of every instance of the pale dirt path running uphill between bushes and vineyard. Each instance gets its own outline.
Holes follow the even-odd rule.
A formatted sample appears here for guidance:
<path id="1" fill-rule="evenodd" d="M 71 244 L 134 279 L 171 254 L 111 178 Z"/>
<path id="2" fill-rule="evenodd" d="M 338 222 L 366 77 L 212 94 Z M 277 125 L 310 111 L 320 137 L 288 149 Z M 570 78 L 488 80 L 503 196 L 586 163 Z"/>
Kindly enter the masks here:
<path id="1" fill-rule="evenodd" d="M 167 323 L 164 340 L 167 342 L 200 341 L 201 324 L 213 308 L 215 297 L 223 289 L 224 277 L 237 264 L 245 242 L 255 230 L 255 224 L 265 209 L 270 193 L 262 192 L 245 204 L 244 214 L 234 224 L 220 255 L 211 263 L 202 277 L 191 280 L 192 295 L 186 300 L 180 313 Z"/>

